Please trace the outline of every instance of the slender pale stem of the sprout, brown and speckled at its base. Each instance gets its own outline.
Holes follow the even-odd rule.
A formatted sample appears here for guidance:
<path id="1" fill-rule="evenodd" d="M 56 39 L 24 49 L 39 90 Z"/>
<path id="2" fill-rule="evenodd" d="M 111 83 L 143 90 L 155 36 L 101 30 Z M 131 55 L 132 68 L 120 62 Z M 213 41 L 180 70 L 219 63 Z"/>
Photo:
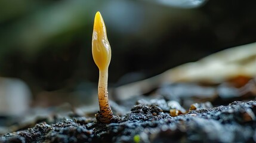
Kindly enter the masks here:
<path id="1" fill-rule="evenodd" d="M 98 113 L 97 120 L 104 123 L 110 123 L 113 118 L 113 112 L 109 105 L 109 97 L 107 92 L 107 77 L 108 69 L 101 71 L 98 78 L 98 104 L 100 105 L 100 112 Z"/>

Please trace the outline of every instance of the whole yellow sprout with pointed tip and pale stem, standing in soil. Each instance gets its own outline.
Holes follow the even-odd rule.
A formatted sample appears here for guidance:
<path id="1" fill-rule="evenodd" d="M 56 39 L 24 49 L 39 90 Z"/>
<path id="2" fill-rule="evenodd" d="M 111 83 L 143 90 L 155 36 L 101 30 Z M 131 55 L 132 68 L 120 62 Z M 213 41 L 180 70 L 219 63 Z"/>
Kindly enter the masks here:
<path id="1" fill-rule="evenodd" d="M 96 119 L 103 123 L 110 123 L 113 119 L 113 112 L 109 105 L 107 77 L 111 60 L 111 49 L 107 40 L 106 27 L 100 12 L 97 12 L 94 18 L 92 57 L 100 71 L 98 78 L 98 104 L 100 105 L 100 111 L 96 114 Z"/>

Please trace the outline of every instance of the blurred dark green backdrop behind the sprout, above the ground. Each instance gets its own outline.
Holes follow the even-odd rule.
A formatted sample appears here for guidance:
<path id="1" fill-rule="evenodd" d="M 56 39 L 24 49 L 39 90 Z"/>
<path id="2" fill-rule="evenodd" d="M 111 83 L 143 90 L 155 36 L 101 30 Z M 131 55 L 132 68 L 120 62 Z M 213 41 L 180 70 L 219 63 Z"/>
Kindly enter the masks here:
<path id="1" fill-rule="evenodd" d="M 18 113 L 94 101 L 97 11 L 112 47 L 109 86 L 116 87 L 256 42 L 255 8 L 256 1 L 241 0 L 0 1 L 0 111 L 23 100 Z"/>

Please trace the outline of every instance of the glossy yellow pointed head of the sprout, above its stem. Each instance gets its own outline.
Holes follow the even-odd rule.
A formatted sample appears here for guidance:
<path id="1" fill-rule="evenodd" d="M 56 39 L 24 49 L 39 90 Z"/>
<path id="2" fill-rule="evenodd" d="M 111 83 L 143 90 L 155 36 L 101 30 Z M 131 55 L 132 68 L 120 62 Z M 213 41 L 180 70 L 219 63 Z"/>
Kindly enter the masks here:
<path id="1" fill-rule="evenodd" d="M 106 26 L 100 12 L 97 12 L 94 18 L 92 57 L 100 71 L 108 69 L 111 60 L 111 48 L 107 40 Z"/>

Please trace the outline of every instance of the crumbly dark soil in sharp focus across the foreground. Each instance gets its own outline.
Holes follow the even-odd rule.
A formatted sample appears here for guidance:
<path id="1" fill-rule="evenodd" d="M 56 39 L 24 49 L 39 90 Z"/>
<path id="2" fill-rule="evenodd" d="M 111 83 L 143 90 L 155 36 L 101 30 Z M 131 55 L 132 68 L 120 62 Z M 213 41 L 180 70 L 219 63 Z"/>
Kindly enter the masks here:
<path id="1" fill-rule="evenodd" d="M 138 104 L 110 124 L 73 116 L 2 135 L 0 142 L 256 142 L 256 101 L 202 107 L 175 117 L 156 105 Z"/>

